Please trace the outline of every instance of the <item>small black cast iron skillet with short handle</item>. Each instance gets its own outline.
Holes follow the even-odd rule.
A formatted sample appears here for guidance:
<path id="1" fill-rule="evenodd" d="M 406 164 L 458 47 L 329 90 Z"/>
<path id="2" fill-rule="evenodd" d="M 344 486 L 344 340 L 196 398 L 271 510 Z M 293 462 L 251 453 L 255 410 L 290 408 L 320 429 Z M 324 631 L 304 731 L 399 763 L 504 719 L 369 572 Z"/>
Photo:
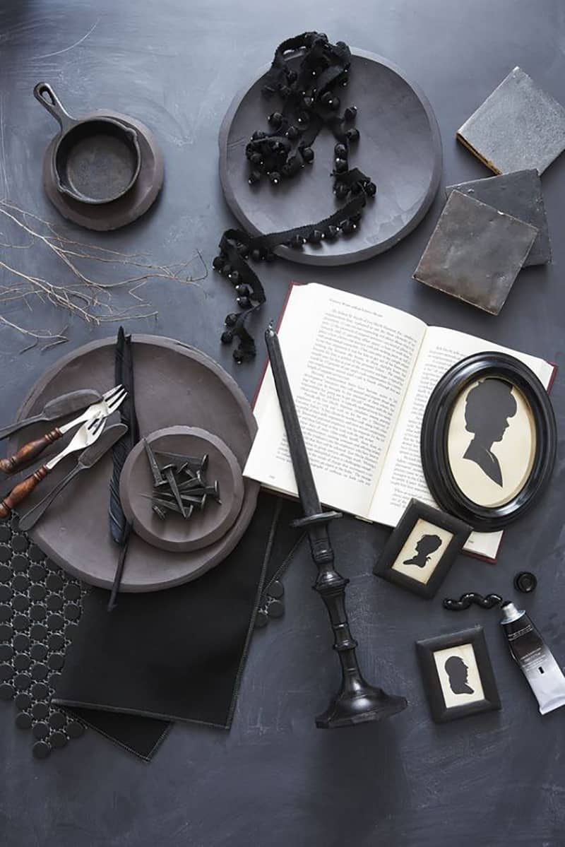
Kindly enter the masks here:
<path id="1" fill-rule="evenodd" d="M 136 130 L 114 118 L 72 118 L 47 82 L 38 82 L 33 93 L 61 126 L 53 147 L 58 191 L 95 204 L 130 191 L 141 168 Z"/>

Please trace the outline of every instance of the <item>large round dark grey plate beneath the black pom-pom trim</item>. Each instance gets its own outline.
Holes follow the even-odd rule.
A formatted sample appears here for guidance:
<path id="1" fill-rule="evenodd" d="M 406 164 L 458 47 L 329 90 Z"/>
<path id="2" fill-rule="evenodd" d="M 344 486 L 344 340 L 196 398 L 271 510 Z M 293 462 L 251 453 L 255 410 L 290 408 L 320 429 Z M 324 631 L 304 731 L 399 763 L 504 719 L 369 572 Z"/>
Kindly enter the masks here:
<path id="1" fill-rule="evenodd" d="M 269 129 L 267 115 L 280 108 L 277 97 L 269 100 L 261 94 L 268 69 L 261 69 L 251 87 L 235 97 L 219 133 L 219 175 L 226 202 L 240 224 L 257 235 L 314 224 L 339 205 L 332 192 L 335 138 L 329 130 L 322 130 L 314 144 L 313 165 L 294 179 L 276 186 L 266 178 L 248 184 L 246 143 L 254 130 Z M 294 262 L 349 264 L 388 250 L 424 218 L 440 185 L 441 139 L 435 114 L 424 92 L 396 65 L 352 49 L 349 85 L 339 96 L 341 111 L 347 105 L 359 110 L 361 139 L 352 144 L 350 165 L 374 180 L 377 197 L 368 202 L 353 235 L 307 245 L 302 251 L 275 250 Z"/>

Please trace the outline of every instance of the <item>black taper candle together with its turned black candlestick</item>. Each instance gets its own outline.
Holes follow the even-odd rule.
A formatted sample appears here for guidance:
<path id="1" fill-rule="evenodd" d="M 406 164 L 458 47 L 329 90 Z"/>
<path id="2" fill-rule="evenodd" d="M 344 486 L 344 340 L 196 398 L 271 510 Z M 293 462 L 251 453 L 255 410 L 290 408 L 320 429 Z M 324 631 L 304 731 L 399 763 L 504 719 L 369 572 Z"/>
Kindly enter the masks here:
<path id="1" fill-rule="evenodd" d="M 305 514 L 304 518 L 294 521 L 294 525 L 307 530 L 310 551 L 318 567 L 318 578 L 313 588 L 318 591 L 328 610 L 334 631 L 334 649 L 341 662 L 340 690 L 332 698 L 324 714 L 316 718 L 316 726 L 319 728 L 346 727 L 355 723 L 379 720 L 381 717 L 387 717 L 405 709 L 407 701 L 404 697 L 388 695 L 383 689 L 369 685 L 359 669 L 357 641 L 351 634 L 346 612 L 346 585 L 349 580 L 335 570 L 334 551 L 328 531 L 328 523 L 334 518 L 341 518 L 341 513 L 322 512 L 291 385 L 280 350 L 279 337 L 271 324 L 265 332 L 265 340 L 274 387 L 279 397 L 280 412 L 285 422 L 296 488 Z"/>

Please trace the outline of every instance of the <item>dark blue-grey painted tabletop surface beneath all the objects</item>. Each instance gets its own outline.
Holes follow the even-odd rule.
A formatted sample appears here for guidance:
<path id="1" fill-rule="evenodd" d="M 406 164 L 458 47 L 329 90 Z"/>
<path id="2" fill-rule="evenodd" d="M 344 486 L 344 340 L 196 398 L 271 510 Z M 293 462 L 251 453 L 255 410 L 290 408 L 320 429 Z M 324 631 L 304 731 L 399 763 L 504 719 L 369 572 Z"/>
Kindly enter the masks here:
<path id="1" fill-rule="evenodd" d="M 276 11 L 275 11 L 276 8 Z M 217 174 L 216 138 L 237 88 L 267 61 L 275 43 L 306 29 L 391 58 L 417 80 L 440 122 L 444 185 L 487 176 L 454 134 L 519 64 L 565 102 L 565 8 L 560 0 L 4 0 L 0 8 L 0 195 L 40 214 L 42 151 L 53 121 L 32 97 L 40 79 L 80 104 L 108 105 L 152 126 L 166 158 L 158 206 L 102 243 L 147 250 L 170 261 L 199 248 L 213 257 L 230 224 Z M 554 263 L 520 274 L 498 318 L 490 318 L 411 280 L 440 211 L 440 199 L 413 235 L 391 252 L 346 269 L 277 263 L 264 277 L 269 313 L 278 313 L 289 280 L 327 282 L 382 299 L 448 325 L 545 356 L 561 367 L 565 242 L 561 237 L 565 158 L 543 176 Z M 2 254 L 0 254 L 2 257 Z M 45 274 L 49 268 L 43 268 Z M 172 335 L 217 357 L 248 396 L 260 357 L 238 369 L 219 348 L 230 286 L 154 283 L 156 322 L 132 329 Z M 15 313 L 21 317 L 24 313 Z M 267 314 L 264 314 L 267 318 Z M 31 318 L 30 318 L 31 319 Z M 35 325 L 60 326 L 47 307 Z M 42 368 L 104 329 L 78 321 L 66 348 L 19 356 L 21 340 L 0 328 L 2 418 L 10 418 Z M 563 373 L 563 372 L 562 372 Z M 563 376 L 553 390 L 565 412 Z M 542 507 L 507 531 L 496 566 L 461 558 L 446 593 L 498 591 L 515 599 L 512 576 L 529 567 L 540 584 L 527 608 L 565 662 L 562 572 L 562 446 Z M 512 666 L 496 612 L 459 617 L 439 600 L 376 580 L 374 556 L 387 530 L 344 521 L 335 527 L 338 562 L 351 577 L 354 632 L 371 679 L 407 696 L 410 707 L 382 725 L 321 732 L 313 716 L 338 682 L 324 611 L 304 557 L 286 579 L 287 612 L 253 640 L 230 734 L 174 728 L 150 766 L 94 732 L 49 760 L 30 756 L 30 734 L 14 727 L 14 706 L 0 705 L 0 842 L 3 847 L 561 847 L 565 836 L 565 710 L 540 717 Z M 443 592 L 440 592 L 440 596 Z M 430 722 L 413 642 L 483 623 L 501 692 L 501 712 L 446 726 Z"/>

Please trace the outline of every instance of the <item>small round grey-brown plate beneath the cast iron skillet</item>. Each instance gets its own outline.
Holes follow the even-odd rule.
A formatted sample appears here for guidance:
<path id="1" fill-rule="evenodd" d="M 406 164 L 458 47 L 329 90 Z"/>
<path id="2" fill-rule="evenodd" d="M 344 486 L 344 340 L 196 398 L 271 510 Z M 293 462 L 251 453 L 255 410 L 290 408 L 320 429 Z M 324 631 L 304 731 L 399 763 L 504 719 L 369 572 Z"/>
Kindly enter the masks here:
<path id="1" fill-rule="evenodd" d="M 141 151 L 141 169 L 135 183 L 126 191 L 123 197 L 109 203 L 92 205 L 74 200 L 68 194 L 62 194 L 57 189 L 57 180 L 53 174 L 53 147 L 58 140 L 55 136 L 47 146 L 43 157 L 43 187 L 53 206 L 64 218 L 74 224 L 86 227 L 88 230 L 117 230 L 120 226 L 131 224 L 141 217 L 157 199 L 163 185 L 164 163 L 163 153 L 151 130 L 141 120 L 129 118 L 119 112 L 93 112 L 81 117 L 81 120 L 99 118 L 114 118 L 126 126 L 137 130 L 137 140 Z"/>

